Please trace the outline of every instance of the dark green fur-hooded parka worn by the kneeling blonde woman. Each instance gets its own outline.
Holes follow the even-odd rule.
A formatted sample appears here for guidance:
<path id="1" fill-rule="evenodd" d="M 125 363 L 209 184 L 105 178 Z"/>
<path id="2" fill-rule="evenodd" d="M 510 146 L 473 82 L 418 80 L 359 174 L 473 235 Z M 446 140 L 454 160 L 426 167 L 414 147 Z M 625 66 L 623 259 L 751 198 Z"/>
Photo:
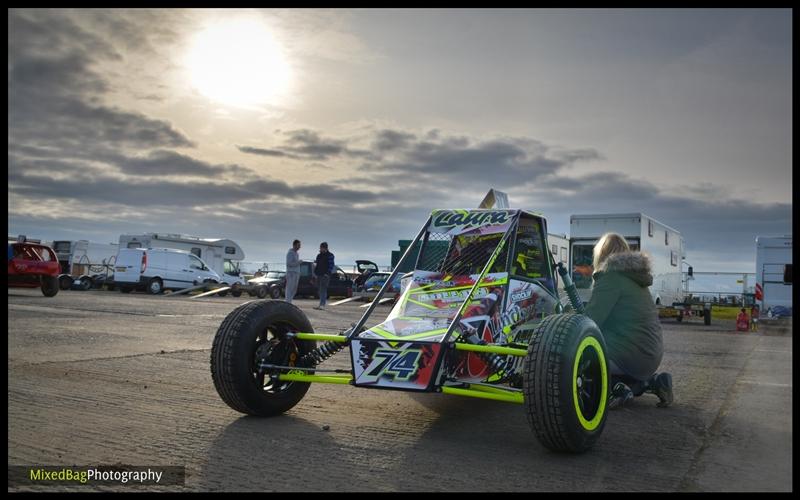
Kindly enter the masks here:
<path id="1" fill-rule="evenodd" d="M 647 380 L 664 353 L 658 311 L 648 290 L 653 284 L 650 259 L 640 252 L 612 254 L 592 277 L 586 315 L 603 332 L 607 357 L 631 377 Z"/>

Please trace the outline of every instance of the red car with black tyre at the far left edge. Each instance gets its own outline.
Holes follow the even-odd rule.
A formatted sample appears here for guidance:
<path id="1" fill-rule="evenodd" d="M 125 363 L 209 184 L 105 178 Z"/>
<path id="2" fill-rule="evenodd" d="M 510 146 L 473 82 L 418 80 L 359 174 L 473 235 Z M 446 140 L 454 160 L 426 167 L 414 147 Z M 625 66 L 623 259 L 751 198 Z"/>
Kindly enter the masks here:
<path id="1" fill-rule="evenodd" d="M 8 244 L 8 286 L 42 288 L 45 297 L 58 293 L 61 266 L 52 248 L 36 243 Z"/>

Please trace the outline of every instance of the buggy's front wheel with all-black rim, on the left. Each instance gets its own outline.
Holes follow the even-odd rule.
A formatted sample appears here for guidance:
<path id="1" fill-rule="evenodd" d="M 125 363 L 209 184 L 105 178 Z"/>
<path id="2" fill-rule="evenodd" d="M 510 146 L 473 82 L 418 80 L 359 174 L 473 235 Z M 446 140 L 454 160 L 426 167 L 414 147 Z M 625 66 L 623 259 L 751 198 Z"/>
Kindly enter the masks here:
<path id="1" fill-rule="evenodd" d="M 220 325 L 211 347 L 211 377 L 225 403 L 248 415 L 272 416 L 296 405 L 311 384 L 280 382 L 259 373 L 262 359 L 294 366 L 316 347 L 314 341 L 287 339 L 287 332 L 313 332 L 292 304 L 256 300 L 234 309 Z"/>

